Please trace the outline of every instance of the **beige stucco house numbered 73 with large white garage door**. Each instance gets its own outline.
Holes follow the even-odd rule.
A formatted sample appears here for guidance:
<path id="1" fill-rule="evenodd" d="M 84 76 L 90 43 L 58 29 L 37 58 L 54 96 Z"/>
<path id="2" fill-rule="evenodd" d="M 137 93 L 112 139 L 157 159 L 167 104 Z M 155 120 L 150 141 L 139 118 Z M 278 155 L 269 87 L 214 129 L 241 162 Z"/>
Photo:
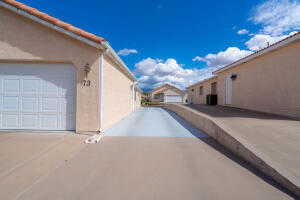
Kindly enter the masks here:
<path id="1" fill-rule="evenodd" d="M 0 129 L 104 131 L 139 106 L 135 81 L 105 39 L 0 1 Z"/>

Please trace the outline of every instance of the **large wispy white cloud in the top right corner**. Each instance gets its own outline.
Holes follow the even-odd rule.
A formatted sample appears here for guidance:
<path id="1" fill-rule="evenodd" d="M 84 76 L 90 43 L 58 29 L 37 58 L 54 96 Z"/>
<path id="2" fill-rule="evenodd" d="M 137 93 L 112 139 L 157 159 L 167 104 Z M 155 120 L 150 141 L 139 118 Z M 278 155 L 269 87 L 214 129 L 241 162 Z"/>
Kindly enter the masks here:
<path id="1" fill-rule="evenodd" d="M 300 30 L 300 2 L 268 0 L 255 7 L 250 19 L 262 25 L 263 34 L 279 36 L 291 30 Z"/>

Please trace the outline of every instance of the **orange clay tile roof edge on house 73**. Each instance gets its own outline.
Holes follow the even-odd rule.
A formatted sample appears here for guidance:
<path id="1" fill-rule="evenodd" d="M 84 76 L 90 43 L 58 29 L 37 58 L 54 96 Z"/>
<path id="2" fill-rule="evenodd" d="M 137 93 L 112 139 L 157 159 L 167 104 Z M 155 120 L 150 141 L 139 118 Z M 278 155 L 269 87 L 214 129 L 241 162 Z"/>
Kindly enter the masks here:
<path id="1" fill-rule="evenodd" d="M 79 35 L 79 36 L 84 37 L 88 40 L 91 40 L 93 42 L 101 43 L 102 41 L 105 41 L 105 39 L 102 38 L 102 37 L 96 36 L 92 33 L 88 33 L 88 32 L 86 32 L 86 31 L 84 31 L 80 28 L 77 28 L 75 26 L 67 24 L 67 23 L 65 23 L 65 22 L 63 22 L 63 21 L 61 21 L 57 18 L 51 17 L 50 15 L 48 15 L 46 13 L 43 13 L 43 12 L 41 12 L 41 11 L 35 9 L 35 8 L 27 6 L 27 5 L 25 5 L 23 3 L 20 3 L 18 1 L 15 1 L 15 0 L 1 0 L 1 1 L 3 1 L 3 2 L 5 2 L 5 3 L 17 8 L 17 9 L 23 10 L 23 11 L 27 12 L 28 14 L 36 16 L 36 17 L 38 17 L 38 18 L 40 18 L 44 21 L 47 21 L 48 23 L 51 23 L 55 26 L 58 26 L 58 27 L 63 28 L 67 31 L 70 31 L 70 32 L 72 32 L 76 35 Z"/>

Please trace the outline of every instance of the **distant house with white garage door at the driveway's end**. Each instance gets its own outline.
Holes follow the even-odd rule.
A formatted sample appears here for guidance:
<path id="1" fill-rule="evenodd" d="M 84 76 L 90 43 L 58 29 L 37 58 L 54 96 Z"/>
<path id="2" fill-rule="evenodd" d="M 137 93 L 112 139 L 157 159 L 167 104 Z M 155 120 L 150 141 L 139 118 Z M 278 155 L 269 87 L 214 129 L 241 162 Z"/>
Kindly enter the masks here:
<path id="1" fill-rule="evenodd" d="M 161 103 L 184 103 L 186 93 L 173 85 L 164 84 L 150 92 L 150 100 Z"/>

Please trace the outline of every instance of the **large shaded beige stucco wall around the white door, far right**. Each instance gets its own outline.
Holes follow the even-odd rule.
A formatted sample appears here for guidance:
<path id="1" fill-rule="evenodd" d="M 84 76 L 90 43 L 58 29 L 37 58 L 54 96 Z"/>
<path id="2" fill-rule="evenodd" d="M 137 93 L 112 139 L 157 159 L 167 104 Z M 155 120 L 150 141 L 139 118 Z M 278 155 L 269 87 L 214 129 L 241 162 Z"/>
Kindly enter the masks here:
<path id="1" fill-rule="evenodd" d="M 300 117 L 300 42 L 218 74 L 219 104 L 225 104 L 225 76 L 232 81 L 232 106 Z"/>

